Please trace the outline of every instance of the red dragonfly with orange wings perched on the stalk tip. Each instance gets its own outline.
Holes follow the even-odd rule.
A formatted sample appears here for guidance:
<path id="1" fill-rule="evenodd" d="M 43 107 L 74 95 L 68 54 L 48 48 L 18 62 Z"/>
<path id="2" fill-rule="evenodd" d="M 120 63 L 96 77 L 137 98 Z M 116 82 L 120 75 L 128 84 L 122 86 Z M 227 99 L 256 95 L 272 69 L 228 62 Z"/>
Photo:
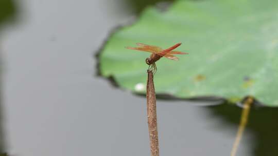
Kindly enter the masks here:
<path id="1" fill-rule="evenodd" d="M 175 60 L 178 61 L 178 57 L 172 55 L 172 54 L 188 54 L 186 52 L 181 52 L 181 51 L 172 51 L 179 47 L 181 43 L 178 43 L 176 45 L 173 45 L 172 47 L 168 49 L 162 49 L 157 46 L 150 46 L 146 45 L 143 43 L 136 43 L 137 46 L 139 47 L 126 47 L 127 49 L 133 49 L 133 50 L 140 50 L 140 51 L 146 51 L 146 52 L 151 52 L 152 54 L 150 57 L 146 58 L 146 64 L 149 65 L 149 69 L 154 69 L 157 70 L 157 66 L 155 65 L 155 62 L 157 62 L 161 57 L 166 57 L 170 60 Z"/>

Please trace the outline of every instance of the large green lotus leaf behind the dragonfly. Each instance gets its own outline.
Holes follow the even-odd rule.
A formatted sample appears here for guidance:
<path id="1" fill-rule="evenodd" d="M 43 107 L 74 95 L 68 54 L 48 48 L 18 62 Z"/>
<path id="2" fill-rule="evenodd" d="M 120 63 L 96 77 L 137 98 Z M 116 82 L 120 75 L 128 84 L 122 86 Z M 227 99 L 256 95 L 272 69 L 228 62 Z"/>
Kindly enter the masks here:
<path id="1" fill-rule="evenodd" d="M 135 43 L 166 49 L 176 43 L 179 61 L 157 62 L 155 90 L 179 98 L 254 96 L 278 106 L 278 1 L 176 1 L 166 12 L 149 7 L 114 32 L 99 54 L 99 71 L 120 88 L 145 93 L 148 52 Z"/>

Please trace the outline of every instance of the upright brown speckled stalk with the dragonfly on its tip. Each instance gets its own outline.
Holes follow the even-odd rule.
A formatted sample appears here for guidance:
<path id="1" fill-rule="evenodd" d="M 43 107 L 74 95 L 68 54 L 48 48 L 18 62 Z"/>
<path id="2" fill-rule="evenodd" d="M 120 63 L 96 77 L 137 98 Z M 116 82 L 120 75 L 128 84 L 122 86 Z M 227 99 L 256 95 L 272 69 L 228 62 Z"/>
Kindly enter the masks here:
<path id="1" fill-rule="evenodd" d="M 149 126 L 151 156 L 159 156 L 158 123 L 157 123 L 157 99 L 155 97 L 152 70 L 148 70 L 147 114 L 148 114 L 148 126 Z"/>

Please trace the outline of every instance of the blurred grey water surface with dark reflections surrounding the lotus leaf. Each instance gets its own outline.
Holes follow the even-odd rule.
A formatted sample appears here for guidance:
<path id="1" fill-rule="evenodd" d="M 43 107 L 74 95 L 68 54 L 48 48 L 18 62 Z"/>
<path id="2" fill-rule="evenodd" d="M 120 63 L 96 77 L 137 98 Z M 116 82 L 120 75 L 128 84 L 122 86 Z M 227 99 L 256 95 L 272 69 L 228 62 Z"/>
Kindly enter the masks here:
<path id="1" fill-rule="evenodd" d="M 94 55 L 158 2 L 0 0 L 1 152 L 150 155 L 145 98 L 98 77 Z M 161 155 L 230 154 L 240 108 L 157 103 Z M 237 155 L 278 154 L 275 115 L 251 112 Z"/>

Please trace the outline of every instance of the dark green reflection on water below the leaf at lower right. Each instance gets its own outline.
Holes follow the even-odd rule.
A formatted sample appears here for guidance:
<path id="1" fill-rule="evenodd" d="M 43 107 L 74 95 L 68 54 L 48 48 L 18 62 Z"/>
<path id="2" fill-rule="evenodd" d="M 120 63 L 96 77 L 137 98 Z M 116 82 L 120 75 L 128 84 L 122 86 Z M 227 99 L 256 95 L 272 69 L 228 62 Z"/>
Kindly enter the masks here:
<path id="1" fill-rule="evenodd" d="M 207 107 L 213 115 L 222 118 L 227 124 L 239 124 L 241 108 L 229 104 Z M 253 148 L 255 156 L 278 155 L 278 109 L 277 108 L 253 108 L 250 111 L 247 129 L 255 134 Z M 247 131 L 245 131 L 247 132 Z M 245 133 L 244 133 L 245 135 Z"/>

